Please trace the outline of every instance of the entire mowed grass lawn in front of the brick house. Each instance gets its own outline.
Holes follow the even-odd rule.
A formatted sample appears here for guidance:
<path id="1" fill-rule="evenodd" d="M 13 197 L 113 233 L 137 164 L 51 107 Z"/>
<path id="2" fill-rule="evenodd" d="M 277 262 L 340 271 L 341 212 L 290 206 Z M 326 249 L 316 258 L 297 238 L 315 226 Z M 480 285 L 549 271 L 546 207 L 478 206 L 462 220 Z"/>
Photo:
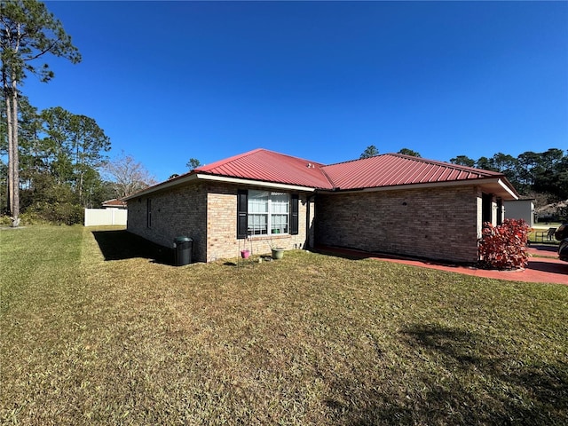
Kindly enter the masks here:
<path id="1" fill-rule="evenodd" d="M 302 251 L 241 268 L 162 255 L 121 230 L 0 231 L 0 423 L 568 418 L 567 286 Z"/>

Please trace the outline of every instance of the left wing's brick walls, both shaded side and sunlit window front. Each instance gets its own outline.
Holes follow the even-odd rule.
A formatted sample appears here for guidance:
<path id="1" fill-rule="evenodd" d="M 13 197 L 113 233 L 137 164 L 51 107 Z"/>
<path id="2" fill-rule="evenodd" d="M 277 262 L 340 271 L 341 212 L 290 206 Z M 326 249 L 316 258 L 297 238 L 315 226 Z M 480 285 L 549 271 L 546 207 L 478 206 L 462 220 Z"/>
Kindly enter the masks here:
<path id="1" fill-rule="evenodd" d="M 245 247 L 255 254 L 270 254 L 270 242 L 279 247 L 306 248 L 312 245 L 314 207 L 313 197 L 300 194 L 297 235 L 254 237 L 237 240 L 237 190 L 264 187 L 239 187 L 222 183 L 198 182 L 168 189 L 129 201 L 128 225 L 149 241 L 172 247 L 179 235 L 193 239 L 193 261 L 210 262 L 240 256 Z M 152 226 L 146 227 L 146 200 L 152 200 Z M 309 225 L 308 225 L 309 224 Z"/>

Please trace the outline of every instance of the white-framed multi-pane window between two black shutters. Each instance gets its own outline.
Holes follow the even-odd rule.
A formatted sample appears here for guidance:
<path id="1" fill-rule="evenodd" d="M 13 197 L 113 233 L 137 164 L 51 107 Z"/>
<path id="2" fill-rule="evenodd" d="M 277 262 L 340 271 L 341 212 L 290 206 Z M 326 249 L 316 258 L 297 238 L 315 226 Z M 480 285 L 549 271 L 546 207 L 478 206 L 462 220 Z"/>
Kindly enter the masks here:
<path id="1" fill-rule="evenodd" d="M 288 193 L 248 191 L 248 235 L 272 235 L 288 233 Z"/>

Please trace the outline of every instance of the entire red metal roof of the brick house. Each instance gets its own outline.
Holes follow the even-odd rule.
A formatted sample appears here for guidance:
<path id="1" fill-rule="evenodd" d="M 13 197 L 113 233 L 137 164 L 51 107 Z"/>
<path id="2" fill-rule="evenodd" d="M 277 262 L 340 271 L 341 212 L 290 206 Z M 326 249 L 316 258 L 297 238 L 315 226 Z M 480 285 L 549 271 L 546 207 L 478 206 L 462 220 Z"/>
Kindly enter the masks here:
<path id="1" fill-rule="evenodd" d="M 403 154 L 382 154 L 375 157 L 340 162 L 325 166 L 266 149 L 248 153 L 198 167 L 189 173 L 171 178 L 140 193 L 183 183 L 193 175 L 236 177 L 250 181 L 298 185 L 323 190 L 357 190 L 397 185 L 467 182 L 500 179 L 509 187 L 506 192 L 517 193 L 500 172 L 474 169 L 447 162 L 435 162 Z M 501 185 L 497 190 L 505 191 Z M 126 199 L 138 196 L 132 194 Z"/>

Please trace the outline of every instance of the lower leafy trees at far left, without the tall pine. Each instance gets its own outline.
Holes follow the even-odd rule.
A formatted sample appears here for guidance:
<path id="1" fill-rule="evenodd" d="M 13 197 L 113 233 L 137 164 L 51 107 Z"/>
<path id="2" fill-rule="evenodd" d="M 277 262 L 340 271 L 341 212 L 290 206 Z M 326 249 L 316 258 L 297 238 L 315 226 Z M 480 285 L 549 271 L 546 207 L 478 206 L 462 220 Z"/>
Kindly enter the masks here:
<path id="1" fill-rule="evenodd" d="M 29 219 L 75 224 L 84 208 L 122 198 L 154 184 L 142 164 L 127 154 L 112 161 L 111 141 L 99 124 L 61 106 L 37 111 L 20 95 L 19 189 L 20 210 Z M 7 152 L 6 117 L 0 119 L 0 154 Z M 8 165 L 0 157 L 0 206 L 8 215 Z"/>

